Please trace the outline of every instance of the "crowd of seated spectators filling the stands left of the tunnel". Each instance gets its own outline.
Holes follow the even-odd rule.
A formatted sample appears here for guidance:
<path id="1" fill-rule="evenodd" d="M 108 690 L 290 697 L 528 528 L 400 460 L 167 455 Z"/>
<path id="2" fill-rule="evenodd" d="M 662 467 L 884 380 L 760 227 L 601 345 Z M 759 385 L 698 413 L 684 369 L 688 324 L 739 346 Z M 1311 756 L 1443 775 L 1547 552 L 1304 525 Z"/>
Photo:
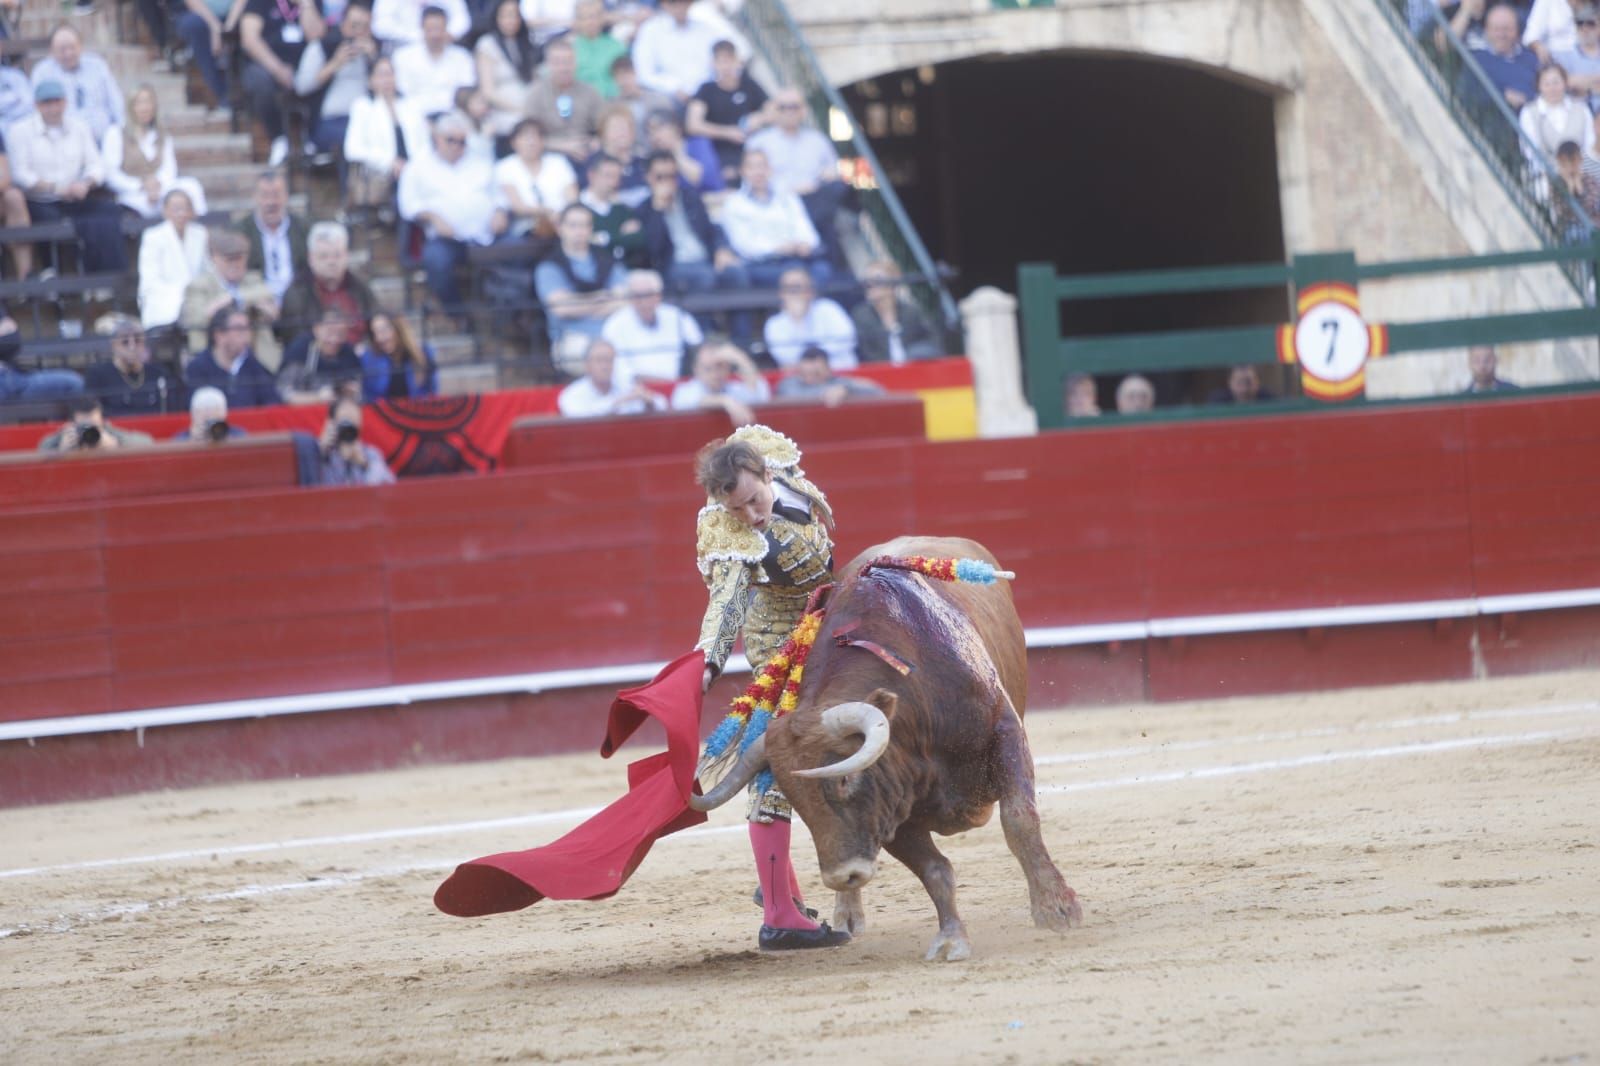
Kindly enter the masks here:
<path id="1" fill-rule="evenodd" d="M 840 371 L 946 351 L 894 264 L 866 267 L 834 144 L 802 93 L 752 75 L 717 0 L 139 11 L 211 104 L 262 131 L 251 210 L 208 214 L 157 91 L 120 85 L 70 22 L 26 74 L 0 67 L 0 221 L 66 219 L 85 272 L 136 277 L 136 314 L 99 323 L 109 359 L 6 362 L 0 400 L 94 399 L 93 413 L 75 400 L 77 423 L 216 394 L 232 408 L 430 395 L 435 352 L 352 269 L 352 227 L 395 234 L 430 325 L 478 330 L 485 301 L 534 309 L 530 355 L 571 383 L 573 415 L 718 405 L 749 421 L 771 399 L 763 368 L 790 371 L 779 395 L 837 403 L 869 391 Z M 290 206 L 291 171 L 322 157 L 339 221 Z M 50 280 L 43 250 L 8 242 L 14 275 Z M 18 335 L 3 317 L 0 357 Z"/>

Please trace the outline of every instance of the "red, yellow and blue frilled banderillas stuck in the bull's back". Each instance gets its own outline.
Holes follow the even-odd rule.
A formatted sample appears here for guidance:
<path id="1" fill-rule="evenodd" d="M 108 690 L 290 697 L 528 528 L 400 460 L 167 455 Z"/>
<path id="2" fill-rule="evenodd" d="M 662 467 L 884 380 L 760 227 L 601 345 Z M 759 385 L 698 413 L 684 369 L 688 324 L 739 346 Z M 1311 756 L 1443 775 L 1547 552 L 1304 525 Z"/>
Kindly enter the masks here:
<path id="1" fill-rule="evenodd" d="M 867 570 L 910 570 L 938 578 L 939 581 L 966 581 L 970 584 L 994 584 L 997 579 L 1011 579 L 1010 570 L 997 570 L 981 559 L 928 559 L 926 555 L 880 555 L 861 568 Z M 822 586 L 827 589 L 832 586 Z M 821 599 L 822 589 L 813 592 L 811 602 Z M 701 770 L 715 765 L 738 743 L 739 752 L 755 743 L 757 736 L 766 733 L 766 725 L 773 719 L 781 719 L 800 703 L 800 679 L 805 674 L 805 661 L 816 643 L 816 634 L 822 629 L 826 608 L 813 607 L 800 616 L 794 632 L 778 653 L 766 659 L 757 672 L 755 680 L 744 693 L 733 701 L 726 717 L 712 730 L 706 739 L 706 754 L 701 757 Z M 773 787 L 773 771 L 762 770 L 755 778 L 755 787 L 762 792 Z"/>

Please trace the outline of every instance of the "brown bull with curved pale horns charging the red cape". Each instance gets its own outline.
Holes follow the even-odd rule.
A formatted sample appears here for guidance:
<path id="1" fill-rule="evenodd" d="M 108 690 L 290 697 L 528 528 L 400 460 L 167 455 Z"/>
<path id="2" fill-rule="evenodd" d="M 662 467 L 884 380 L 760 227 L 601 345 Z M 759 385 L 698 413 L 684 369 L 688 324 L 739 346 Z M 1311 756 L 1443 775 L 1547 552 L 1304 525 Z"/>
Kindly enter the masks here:
<path id="1" fill-rule="evenodd" d="M 862 571 L 880 555 L 995 562 L 976 541 L 958 538 L 904 536 L 858 555 L 827 600 L 795 709 L 774 719 L 693 805 L 718 807 L 771 767 L 811 831 L 822 882 L 837 893 L 834 927 L 853 935 L 866 928 L 861 888 L 886 850 L 933 900 L 939 932 L 928 960 L 950 962 L 970 957 L 971 943 L 955 911 L 955 872 L 931 834 L 982 826 L 998 805 L 1034 924 L 1078 925 L 1077 893 L 1038 828 L 1034 757 L 1022 731 L 1027 650 L 1010 586 Z M 894 659 L 909 661 L 909 672 Z"/>

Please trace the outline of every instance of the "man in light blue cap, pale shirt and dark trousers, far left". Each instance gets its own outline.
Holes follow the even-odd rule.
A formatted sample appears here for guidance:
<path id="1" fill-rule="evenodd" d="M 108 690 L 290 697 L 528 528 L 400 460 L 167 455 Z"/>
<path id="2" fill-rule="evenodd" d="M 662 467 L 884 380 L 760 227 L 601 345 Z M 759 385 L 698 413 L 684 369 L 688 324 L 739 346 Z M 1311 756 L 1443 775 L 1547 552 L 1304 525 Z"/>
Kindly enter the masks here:
<path id="1" fill-rule="evenodd" d="M 126 271 L 122 213 L 112 200 L 94 195 L 106 184 L 106 162 L 94 134 L 82 118 L 66 114 L 61 82 L 40 82 L 34 99 L 38 110 L 5 134 L 11 174 L 27 194 L 29 214 L 35 222 L 72 219 L 90 271 Z"/>

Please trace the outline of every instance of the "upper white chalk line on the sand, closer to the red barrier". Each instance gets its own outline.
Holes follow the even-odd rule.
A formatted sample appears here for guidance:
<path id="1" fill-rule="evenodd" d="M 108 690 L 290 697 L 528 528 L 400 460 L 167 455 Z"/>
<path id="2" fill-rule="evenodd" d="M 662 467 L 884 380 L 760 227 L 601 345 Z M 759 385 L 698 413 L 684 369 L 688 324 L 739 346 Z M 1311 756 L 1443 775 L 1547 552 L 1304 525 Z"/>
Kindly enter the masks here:
<path id="1" fill-rule="evenodd" d="M 1491 711 L 1454 711 L 1450 714 L 1392 719 L 1387 722 L 1370 722 L 1370 723 L 1363 722 L 1357 725 L 1285 730 L 1277 733 L 1253 733 L 1248 736 L 1232 736 L 1232 738 L 1224 736 L 1224 738 L 1210 738 L 1197 741 L 1158 741 L 1152 744 L 1138 744 L 1130 747 L 1104 747 L 1099 751 L 1088 751 L 1088 752 L 1040 755 L 1034 759 L 1034 765 L 1056 767 L 1075 762 L 1094 762 L 1099 759 L 1126 759 L 1126 757 L 1157 755 L 1157 754 L 1181 752 L 1181 751 L 1203 751 L 1208 747 L 1238 746 L 1238 744 L 1266 744 L 1275 741 L 1320 739 L 1326 736 L 1358 735 L 1378 730 L 1403 730 L 1403 728 L 1421 728 L 1427 725 L 1459 725 L 1464 722 L 1478 722 L 1478 720 L 1488 722 L 1488 720 L 1504 720 L 1504 719 L 1531 719 L 1531 717 L 1595 714 L 1595 712 L 1600 712 L 1600 701 L 1595 699 L 1581 703 L 1536 704 L 1523 707 L 1498 707 Z M 1118 778 L 1118 781 L 1122 779 L 1123 778 Z M 1066 787 L 1067 791 L 1080 791 L 1077 786 L 1050 786 L 1050 787 Z M 1050 787 L 1040 791 L 1042 792 L 1050 791 Z M 373 829 L 366 832 L 346 832 L 346 834 L 333 834 L 322 837 L 291 837 L 286 840 L 267 840 L 262 844 L 237 844 L 237 845 L 211 847 L 211 848 L 186 848 L 181 852 L 160 852 L 155 855 L 128 855 L 122 858 L 86 860 L 82 863 L 59 863 L 53 866 L 21 866 L 14 869 L 0 869 L 0 880 L 10 877 L 32 877 L 38 874 L 59 874 L 59 872 L 83 871 L 83 869 L 107 869 L 112 866 L 184 863 L 197 858 L 213 860 L 224 856 L 261 855 L 264 852 L 285 852 L 291 848 L 344 847 L 352 844 L 373 844 L 381 840 L 403 840 L 408 837 L 456 836 L 464 832 L 478 832 L 483 829 L 526 829 L 530 826 L 589 818 L 598 810 L 600 810 L 598 807 L 574 807 L 568 810 L 541 812 L 533 815 L 510 815 L 506 818 L 453 821 L 432 826 L 400 826 L 395 829 Z"/>

